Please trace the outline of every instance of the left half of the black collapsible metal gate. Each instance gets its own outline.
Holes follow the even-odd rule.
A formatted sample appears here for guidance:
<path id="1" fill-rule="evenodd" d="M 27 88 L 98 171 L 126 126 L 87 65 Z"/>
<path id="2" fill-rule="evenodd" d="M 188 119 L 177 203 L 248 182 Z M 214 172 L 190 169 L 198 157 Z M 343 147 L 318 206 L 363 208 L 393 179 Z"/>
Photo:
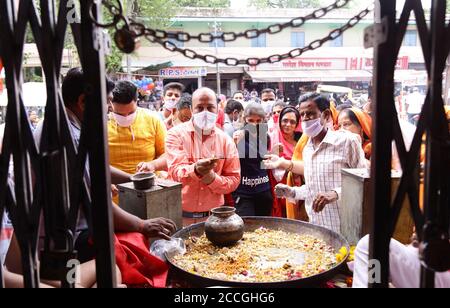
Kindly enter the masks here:
<path id="1" fill-rule="evenodd" d="M 73 234 L 82 204 L 95 243 L 99 287 L 116 285 L 112 238 L 110 176 L 106 128 L 104 38 L 92 23 L 90 10 L 100 6 L 79 2 L 81 24 L 70 24 L 85 77 L 86 110 L 79 147 L 75 146 L 60 91 L 61 58 L 68 28 L 68 0 L 0 2 L 0 56 L 6 70 L 8 109 L 0 156 L 0 216 L 10 213 L 22 254 L 26 287 L 39 285 L 39 277 L 68 283 L 67 262 L 76 259 Z M 39 51 L 47 85 L 46 116 L 40 148 L 36 147 L 22 100 L 25 32 L 29 25 Z M 14 185 L 7 182 L 10 158 Z M 90 189 L 84 166 L 90 162 Z M 8 183 L 8 184 L 7 184 Z M 45 248 L 37 263 L 41 213 Z M 0 267 L 1 273 L 1 267 Z M 3 285 L 0 277 L 0 286 Z"/>

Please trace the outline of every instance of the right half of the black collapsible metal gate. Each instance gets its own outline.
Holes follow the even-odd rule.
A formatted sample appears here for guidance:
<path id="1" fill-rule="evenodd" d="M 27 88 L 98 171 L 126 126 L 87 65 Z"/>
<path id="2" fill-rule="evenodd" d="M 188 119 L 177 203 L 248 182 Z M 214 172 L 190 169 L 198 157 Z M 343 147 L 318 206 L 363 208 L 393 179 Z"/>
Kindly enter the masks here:
<path id="1" fill-rule="evenodd" d="M 388 287 L 389 243 L 403 200 L 408 196 L 416 230 L 421 240 L 423 263 L 421 286 L 434 287 L 434 273 L 450 268 L 449 192 L 450 149 L 448 124 L 442 99 L 442 78 L 450 51 L 450 25 L 446 24 L 445 0 L 433 0 L 428 27 L 420 0 L 406 0 L 400 20 L 396 2 L 377 0 L 375 27 L 374 134 L 372 158 L 373 230 L 370 259 L 381 263 L 381 277 L 371 287 Z M 409 152 L 402 137 L 394 103 L 394 71 L 408 20 L 414 12 L 428 72 L 429 88 L 417 131 Z M 419 157 L 426 136 L 424 211 L 419 202 Z M 391 142 L 395 140 L 403 177 L 391 202 Z M 370 269 L 373 270 L 373 269 Z"/>

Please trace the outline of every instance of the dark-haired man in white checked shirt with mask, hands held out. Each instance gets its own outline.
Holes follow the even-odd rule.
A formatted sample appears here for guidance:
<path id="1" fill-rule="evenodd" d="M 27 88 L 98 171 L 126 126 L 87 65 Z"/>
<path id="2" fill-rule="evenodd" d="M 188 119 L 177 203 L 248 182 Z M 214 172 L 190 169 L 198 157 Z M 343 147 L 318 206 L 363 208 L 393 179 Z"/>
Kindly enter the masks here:
<path id="1" fill-rule="evenodd" d="M 340 232 L 338 201 L 341 195 L 341 170 L 366 168 L 367 163 L 361 141 L 356 134 L 332 131 L 327 128 L 331 119 L 330 101 L 319 94 L 306 95 L 300 102 L 303 133 L 309 141 L 303 150 L 302 168 L 289 162 L 288 171 L 304 174 L 306 184 L 301 187 L 277 185 L 278 197 L 305 200 L 310 222 Z M 266 163 L 270 169 L 282 167 L 283 159 Z"/>

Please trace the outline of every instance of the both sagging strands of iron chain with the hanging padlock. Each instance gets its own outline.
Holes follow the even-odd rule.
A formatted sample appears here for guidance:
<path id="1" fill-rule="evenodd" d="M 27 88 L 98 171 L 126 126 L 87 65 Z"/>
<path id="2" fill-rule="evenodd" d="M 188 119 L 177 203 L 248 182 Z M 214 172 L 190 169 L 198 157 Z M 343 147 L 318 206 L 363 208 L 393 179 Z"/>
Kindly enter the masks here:
<path id="1" fill-rule="evenodd" d="M 122 8 L 122 5 L 120 4 L 120 0 L 115 0 L 119 3 L 118 5 L 111 4 L 108 1 L 110 1 L 110 0 L 102 0 L 102 3 L 103 4 L 107 3 L 107 4 L 105 4 L 105 7 L 108 9 L 108 11 L 111 14 L 114 15 L 113 22 L 109 23 L 109 24 L 99 24 L 95 20 L 95 18 L 93 18 L 93 16 L 91 16 L 91 18 L 93 19 L 93 22 L 98 27 L 102 27 L 102 28 L 114 27 L 116 29 L 116 35 L 115 35 L 116 43 L 121 45 L 120 43 L 125 42 L 124 45 L 125 46 L 128 45 L 125 48 L 121 48 L 120 46 L 118 46 L 121 50 L 123 50 L 127 53 L 132 52 L 133 48 L 135 46 L 134 41 L 140 37 L 145 37 L 150 42 L 160 44 L 165 49 L 167 49 L 171 52 L 178 52 L 178 53 L 184 55 L 186 58 L 189 58 L 192 60 L 194 60 L 194 59 L 202 60 L 209 64 L 222 63 L 222 64 L 225 64 L 228 66 L 238 66 L 238 65 L 257 66 L 260 64 L 265 64 L 265 63 L 272 64 L 272 63 L 277 63 L 277 62 L 280 62 L 280 61 L 283 61 L 286 59 L 299 57 L 307 51 L 316 50 L 316 49 L 322 47 L 325 43 L 335 40 L 336 38 L 341 36 L 345 31 L 355 27 L 364 17 L 366 17 L 372 11 L 372 8 L 366 8 L 365 10 L 361 11 L 359 14 L 352 17 L 344 26 L 332 30 L 327 36 L 323 37 L 322 39 L 317 39 L 317 40 L 311 42 L 308 46 L 305 46 L 303 48 L 295 48 L 295 49 L 292 49 L 291 51 L 289 51 L 288 53 L 275 54 L 275 55 L 271 55 L 266 58 L 237 59 L 237 58 L 218 58 L 214 55 L 209 55 L 209 54 L 202 55 L 202 54 L 198 54 L 197 52 L 195 52 L 192 49 L 179 48 L 174 43 L 172 43 L 170 41 L 165 41 L 165 39 L 169 38 L 168 33 L 166 31 L 149 29 L 149 28 L 146 28 L 141 23 L 136 23 L 136 22 L 129 23 L 128 19 L 123 15 L 123 8 Z M 342 0 L 342 1 L 349 2 L 350 0 Z M 338 2 L 339 1 L 337 1 L 333 5 L 330 5 L 329 7 L 331 7 L 331 6 L 335 7 Z M 326 13 L 324 13 L 324 12 L 326 12 L 326 9 L 327 8 L 324 8 L 321 10 L 319 9 L 319 10 L 315 11 L 315 12 L 319 12 L 319 13 L 313 13 L 313 15 L 315 14 L 316 19 L 321 18 L 326 14 Z M 300 17 L 300 19 L 301 18 L 302 17 Z M 294 20 L 299 20 L 299 18 L 296 18 Z M 120 26 L 122 24 L 122 22 L 124 25 Z M 269 29 L 271 29 L 274 26 L 277 26 L 277 25 L 272 25 L 272 26 L 268 27 L 267 29 L 257 30 L 257 31 L 266 31 L 266 32 L 261 32 L 261 33 L 268 33 L 268 31 L 271 31 Z M 278 26 L 282 26 L 282 25 L 278 25 Z M 256 30 L 247 30 L 243 33 L 248 33 L 248 31 L 256 31 Z M 273 31 L 274 30 L 272 30 L 272 32 Z M 269 32 L 269 33 L 272 33 L 272 32 Z M 278 32 L 273 32 L 273 34 L 274 33 L 278 33 Z M 213 36 L 210 33 L 199 34 L 198 36 L 193 36 L 193 35 L 190 35 L 185 32 L 176 32 L 174 34 L 176 36 L 175 39 L 177 39 L 178 41 L 182 41 L 182 42 L 190 41 L 193 38 L 198 38 L 199 41 L 201 41 L 201 42 L 212 42 L 216 38 L 222 39 L 222 35 L 228 35 L 229 33 L 224 33 L 220 36 Z M 257 37 L 257 33 L 255 32 L 254 34 L 255 34 L 255 36 L 251 36 L 250 38 Z M 202 38 L 202 35 L 207 35 L 207 37 Z M 233 33 L 233 35 L 237 36 L 238 34 Z M 237 39 L 237 37 L 236 37 L 236 39 Z M 225 41 L 230 41 L 230 40 L 225 40 Z M 129 43 L 129 44 L 126 44 L 126 43 Z"/>

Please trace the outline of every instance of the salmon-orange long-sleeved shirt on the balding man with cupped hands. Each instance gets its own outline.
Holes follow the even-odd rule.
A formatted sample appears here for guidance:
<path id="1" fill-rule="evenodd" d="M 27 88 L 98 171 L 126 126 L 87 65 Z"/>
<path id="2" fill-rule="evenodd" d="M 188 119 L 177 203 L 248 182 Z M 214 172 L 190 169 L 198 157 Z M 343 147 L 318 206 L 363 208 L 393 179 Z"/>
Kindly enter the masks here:
<path id="1" fill-rule="evenodd" d="M 208 136 L 197 133 L 192 121 L 172 128 L 166 140 L 167 165 L 173 181 L 183 184 L 183 210 L 208 212 L 224 204 L 224 195 L 237 189 L 241 180 L 239 154 L 233 140 L 215 128 Z M 202 158 L 219 160 L 215 180 L 206 185 L 195 174 L 195 163 Z"/>

